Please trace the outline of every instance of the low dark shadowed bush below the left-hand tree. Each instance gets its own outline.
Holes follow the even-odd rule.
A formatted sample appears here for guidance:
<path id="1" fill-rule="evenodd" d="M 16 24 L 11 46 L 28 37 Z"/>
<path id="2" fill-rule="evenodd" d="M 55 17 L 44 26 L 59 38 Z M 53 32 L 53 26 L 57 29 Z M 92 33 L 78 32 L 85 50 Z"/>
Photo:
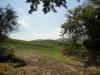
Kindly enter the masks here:
<path id="1" fill-rule="evenodd" d="M 7 49 L 0 47 L 0 62 L 12 63 L 12 66 L 14 67 L 21 67 L 26 65 L 22 59 L 19 59 L 14 55 L 13 48 Z"/>

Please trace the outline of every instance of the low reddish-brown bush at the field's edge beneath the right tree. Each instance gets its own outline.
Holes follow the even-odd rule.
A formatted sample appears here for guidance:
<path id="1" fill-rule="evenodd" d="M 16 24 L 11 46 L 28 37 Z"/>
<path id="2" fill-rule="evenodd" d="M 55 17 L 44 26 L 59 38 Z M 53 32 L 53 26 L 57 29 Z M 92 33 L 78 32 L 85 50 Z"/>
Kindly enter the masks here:
<path id="1" fill-rule="evenodd" d="M 61 50 L 61 53 L 65 56 L 73 56 L 79 61 L 87 61 L 88 60 L 88 51 L 85 48 L 75 49 L 73 47 L 66 47 Z"/>

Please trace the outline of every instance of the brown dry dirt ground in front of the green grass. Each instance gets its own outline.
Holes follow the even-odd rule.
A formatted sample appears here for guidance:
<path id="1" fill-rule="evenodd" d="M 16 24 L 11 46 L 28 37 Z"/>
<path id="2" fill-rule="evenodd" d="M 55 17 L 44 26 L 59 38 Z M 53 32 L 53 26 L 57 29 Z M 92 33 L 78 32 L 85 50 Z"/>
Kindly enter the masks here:
<path id="1" fill-rule="evenodd" d="M 85 68 L 49 60 L 41 56 L 28 54 L 22 57 L 27 66 L 17 70 L 17 75 L 89 75 Z"/>

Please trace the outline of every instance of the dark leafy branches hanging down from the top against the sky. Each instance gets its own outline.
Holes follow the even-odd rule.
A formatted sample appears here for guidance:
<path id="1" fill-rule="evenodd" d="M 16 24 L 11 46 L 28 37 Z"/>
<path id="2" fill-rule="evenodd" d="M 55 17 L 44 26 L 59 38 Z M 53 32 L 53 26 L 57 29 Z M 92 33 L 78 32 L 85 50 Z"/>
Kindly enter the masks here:
<path id="1" fill-rule="evenodd" d="M 80 0 L 77 0 L 78 2 Z M 65 7 L 66 6 L 66 0 L 26 0 L 27 3 L 30 4 L 30 10 L 29 13 L 32 14 L 32 12 L 37 11 L 38 5 L 43 4 L 43 12 L 44 14 L 50 12 L 50 10 L 57 12 L 55 7 Z"/>

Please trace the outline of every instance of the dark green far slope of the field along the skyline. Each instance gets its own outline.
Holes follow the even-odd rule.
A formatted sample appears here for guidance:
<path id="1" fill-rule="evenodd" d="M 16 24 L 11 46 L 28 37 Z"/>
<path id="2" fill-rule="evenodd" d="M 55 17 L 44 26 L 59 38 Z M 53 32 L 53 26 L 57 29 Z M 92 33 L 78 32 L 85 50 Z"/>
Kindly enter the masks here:
<path id="1" fill-rule="evenodd" d="M 5 41 L 4 46 L 14 49 L 35 49 L 35 50 L 57 50 L 61 49 L 62 45 L 56 40 L 34 40 L 34 41 L 22 41 L 16 39 L 8 39 Z"/>

